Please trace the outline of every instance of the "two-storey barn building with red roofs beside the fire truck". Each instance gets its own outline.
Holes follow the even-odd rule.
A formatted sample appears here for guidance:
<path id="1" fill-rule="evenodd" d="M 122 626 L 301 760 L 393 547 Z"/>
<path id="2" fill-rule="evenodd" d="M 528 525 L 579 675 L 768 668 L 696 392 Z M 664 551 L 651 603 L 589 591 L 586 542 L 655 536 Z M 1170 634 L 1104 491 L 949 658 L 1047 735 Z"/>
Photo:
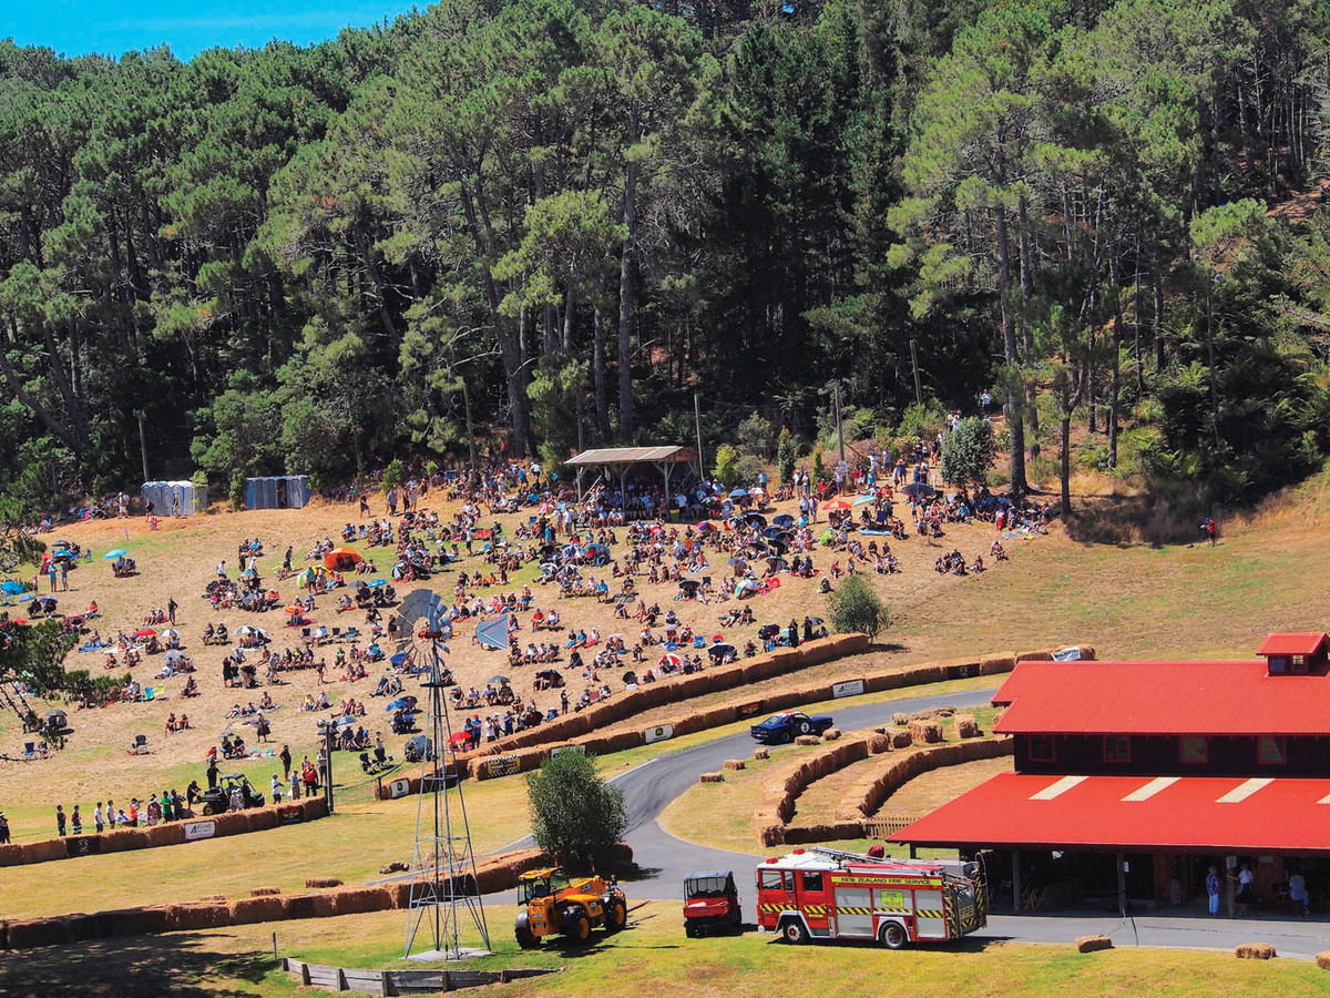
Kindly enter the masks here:
<path id="1" fill-rule="evenodd" d="M 1204 900 L 1216 865 L 1330 890 L 1330 637 L 1270 635 L 1249 661 L 1023 661 L 994 697 L 1015 772 L 892 838 L 990 853 L 1021 908 Z M 994 865 L 996 862 L 996 865 Z M 1229 909 L 1234 880 L 1225 877 Z"/>

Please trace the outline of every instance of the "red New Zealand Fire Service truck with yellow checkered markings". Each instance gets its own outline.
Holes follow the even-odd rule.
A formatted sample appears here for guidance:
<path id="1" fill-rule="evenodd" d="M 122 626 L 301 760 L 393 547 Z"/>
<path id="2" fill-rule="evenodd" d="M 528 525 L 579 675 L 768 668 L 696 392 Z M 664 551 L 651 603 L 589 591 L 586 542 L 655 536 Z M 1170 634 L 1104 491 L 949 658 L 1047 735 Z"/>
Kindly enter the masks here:
<path id="1" fill-rule="evenodd" d="M 960 860 L 878 860 L 795 849 L 757 868 L 757 923 L 786 942 L 959 939 L 987 925 L 983 868 Z"/>

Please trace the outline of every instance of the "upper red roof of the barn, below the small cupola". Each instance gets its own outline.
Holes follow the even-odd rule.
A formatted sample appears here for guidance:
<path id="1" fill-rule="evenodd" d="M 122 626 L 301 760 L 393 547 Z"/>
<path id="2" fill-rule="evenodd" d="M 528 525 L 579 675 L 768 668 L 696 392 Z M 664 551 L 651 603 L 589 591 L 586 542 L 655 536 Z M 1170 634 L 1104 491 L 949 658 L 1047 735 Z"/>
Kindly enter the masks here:
<path id="1" fill-rule="evenodd" d="M 1252 661 L 1023 661 L 1005 735 L 1330 735 L 1330 677 Z M 1330 817 L 1330 812 L 1327 812 Z"/>

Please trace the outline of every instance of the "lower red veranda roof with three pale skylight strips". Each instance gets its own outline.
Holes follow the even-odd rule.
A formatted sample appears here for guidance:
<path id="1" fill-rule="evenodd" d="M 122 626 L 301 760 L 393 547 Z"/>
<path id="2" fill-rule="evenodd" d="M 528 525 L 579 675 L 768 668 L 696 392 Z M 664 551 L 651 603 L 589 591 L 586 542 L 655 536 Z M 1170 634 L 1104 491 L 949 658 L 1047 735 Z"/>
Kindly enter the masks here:
<path id="1" fill-rule="evenodd" d="M 930 846 L 1330 853 L 1327 817 L 1330 780 L 1001 773 L 890 838 Z"/>

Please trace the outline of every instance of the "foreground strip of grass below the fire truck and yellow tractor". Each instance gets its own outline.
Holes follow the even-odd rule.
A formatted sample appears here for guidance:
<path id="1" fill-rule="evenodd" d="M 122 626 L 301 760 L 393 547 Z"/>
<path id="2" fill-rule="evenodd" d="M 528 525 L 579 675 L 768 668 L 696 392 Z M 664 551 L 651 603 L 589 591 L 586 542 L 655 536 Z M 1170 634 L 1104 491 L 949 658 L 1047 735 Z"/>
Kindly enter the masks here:
<path id="1" fill-rule="evenodd" d="M 1069 946 L 964 942 L 890 953 L 849 943 L 794 947 L 755 931 L 685 939 L 678 905 L 672 902 L 634 908 L 626 931 L 604 941 L 596 933 L 585 950 L 547 945 L 531 953 L 512 941 L 512 914 L 511 909 L 487 912 L 495 954 L 466 967 L 560 967 L 563 973 L 497 986 L 504 995 L 640 998 L 645 989 L 753 998 L 793 990 L 938 998 L 1330 994 L 1330 974 L 1313 963 L 1240 961 L 1230 953 L 1125 947 L 1083 955 Z M 166 982 L 178 995 L 321 994 L 301 989 L 277 967 L 274 933 L 279 954 L 314 963 L 416 967 L 400 959 L 406 925 L 404 912 L 383 912 L 4 954 L 0 993 L 52 994 L 51 982 L 61 981 L 68 982 L 61 994 L 77 995 L 161 994 Z M 473 931 L 464 934 L 464 942 L 475 941 Z"/>

